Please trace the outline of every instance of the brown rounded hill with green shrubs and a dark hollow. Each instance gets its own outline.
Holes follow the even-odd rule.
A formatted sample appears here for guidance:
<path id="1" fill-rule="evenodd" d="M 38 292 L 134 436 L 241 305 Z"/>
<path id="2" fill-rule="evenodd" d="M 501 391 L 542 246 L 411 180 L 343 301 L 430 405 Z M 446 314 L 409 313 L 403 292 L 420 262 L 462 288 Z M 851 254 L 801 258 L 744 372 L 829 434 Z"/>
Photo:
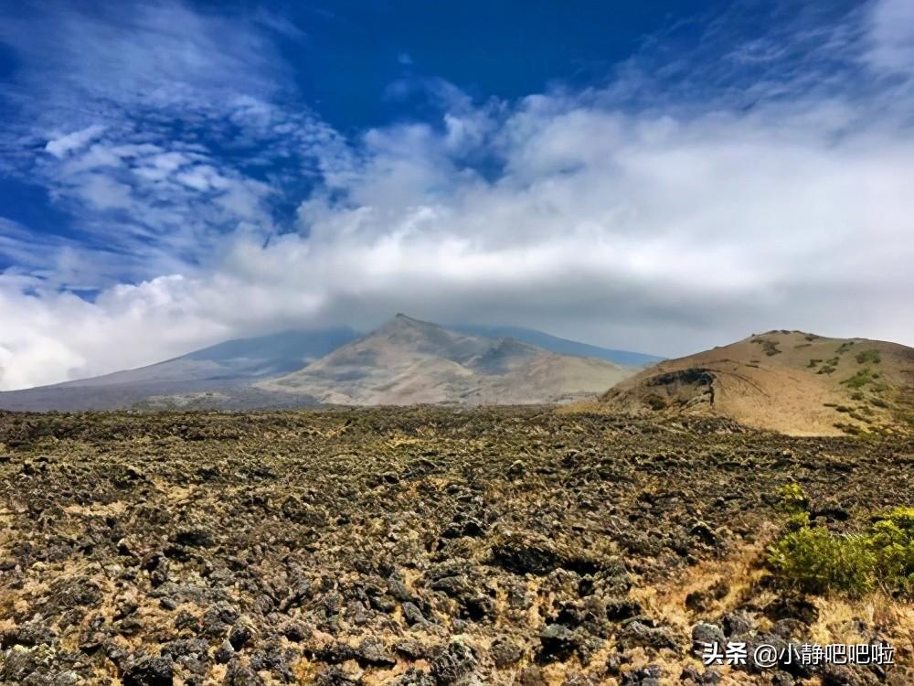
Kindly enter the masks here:
<path id="1" fill-rule="evenodd" d="M 713 413 L 792 435 L 909 431 L 914 348 L 769 331 L 660 362 L 600 403 L 636 413 Z"/>

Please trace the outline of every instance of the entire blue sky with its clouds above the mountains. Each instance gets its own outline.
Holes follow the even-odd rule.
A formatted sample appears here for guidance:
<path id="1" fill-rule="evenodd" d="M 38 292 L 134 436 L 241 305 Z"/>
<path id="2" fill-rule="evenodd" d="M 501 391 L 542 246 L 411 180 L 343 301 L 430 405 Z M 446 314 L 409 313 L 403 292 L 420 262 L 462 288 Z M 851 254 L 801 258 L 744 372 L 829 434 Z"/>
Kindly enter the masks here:
<path id="1" fill-rule="evenodd" d="M 397 311 L 910 344 L 912 7 L 0 0 L 0 389 Z"/>

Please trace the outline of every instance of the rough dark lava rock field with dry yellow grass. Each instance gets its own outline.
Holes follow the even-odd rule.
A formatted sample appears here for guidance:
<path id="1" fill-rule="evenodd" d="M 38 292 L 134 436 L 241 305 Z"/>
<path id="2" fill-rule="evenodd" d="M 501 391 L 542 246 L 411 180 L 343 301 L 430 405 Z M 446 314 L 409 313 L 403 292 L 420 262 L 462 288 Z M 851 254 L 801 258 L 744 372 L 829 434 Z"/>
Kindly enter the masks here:
<path id="1" fill-rule="evenodd" d="M 4 684 L 914 683 L 910 606 L 803 597 L 792 480 L 841 530 L 910 439 L 526 409 L 0 415 Z M 896 664 L 706 668 L 694 640 Z"/>

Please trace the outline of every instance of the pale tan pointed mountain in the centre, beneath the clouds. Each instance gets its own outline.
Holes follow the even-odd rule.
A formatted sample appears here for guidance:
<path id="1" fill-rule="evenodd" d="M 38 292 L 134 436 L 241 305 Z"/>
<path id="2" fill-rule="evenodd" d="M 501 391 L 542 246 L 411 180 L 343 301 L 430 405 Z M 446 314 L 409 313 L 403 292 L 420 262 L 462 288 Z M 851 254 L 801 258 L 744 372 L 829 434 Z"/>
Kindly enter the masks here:
<path id="1" fill-rule="evenodd" d="M 387 325 L 261 391 L 340 404 L 563 402 L 632 374 L 603 359 L 558 355 L 514 338 L 484 338 L 398 315 Z"/>

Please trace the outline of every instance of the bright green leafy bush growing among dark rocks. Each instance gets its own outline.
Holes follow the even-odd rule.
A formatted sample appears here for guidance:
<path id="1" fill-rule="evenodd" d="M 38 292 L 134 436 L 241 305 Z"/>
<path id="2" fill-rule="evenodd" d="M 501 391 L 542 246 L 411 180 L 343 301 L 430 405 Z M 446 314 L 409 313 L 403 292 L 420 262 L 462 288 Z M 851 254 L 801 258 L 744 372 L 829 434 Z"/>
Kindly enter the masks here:
<path id="1" fill-rule="evenodd" d="M 794 515 L 769 548 L 781 583 L 807 593 L 914 594 L 914 508 L 877 518 L 864 533 L 836 534 Z"/>

